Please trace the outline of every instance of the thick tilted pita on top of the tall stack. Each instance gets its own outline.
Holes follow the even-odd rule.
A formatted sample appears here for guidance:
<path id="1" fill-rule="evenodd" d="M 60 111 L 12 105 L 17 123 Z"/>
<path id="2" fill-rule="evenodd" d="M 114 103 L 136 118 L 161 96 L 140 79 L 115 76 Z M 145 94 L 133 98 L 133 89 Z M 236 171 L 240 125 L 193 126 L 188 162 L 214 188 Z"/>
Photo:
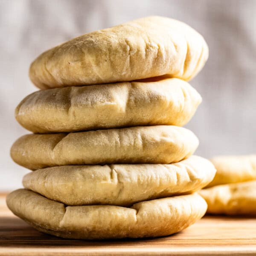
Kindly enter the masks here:
<path id="1" fill-rule="evenodd" d="M 166 17 L 145 17 L 49 49 L 31 64 L 29 76 L 43 89 L 165 74 L 189 80 L 207 58 L 204 38 L 190 26 Z"/>

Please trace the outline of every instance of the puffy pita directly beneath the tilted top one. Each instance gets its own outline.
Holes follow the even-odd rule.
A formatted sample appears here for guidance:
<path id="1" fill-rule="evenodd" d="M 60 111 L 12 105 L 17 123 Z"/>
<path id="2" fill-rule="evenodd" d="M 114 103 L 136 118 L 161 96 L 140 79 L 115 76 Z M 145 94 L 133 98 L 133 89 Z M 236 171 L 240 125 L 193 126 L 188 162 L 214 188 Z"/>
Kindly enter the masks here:
<path id="1" fill-rule="evenodd" d="M 147 125 L 185 125 L 201 96 L 180 79 L 39 90 L 17 106 L 17 121 L 35 133 Z"/>

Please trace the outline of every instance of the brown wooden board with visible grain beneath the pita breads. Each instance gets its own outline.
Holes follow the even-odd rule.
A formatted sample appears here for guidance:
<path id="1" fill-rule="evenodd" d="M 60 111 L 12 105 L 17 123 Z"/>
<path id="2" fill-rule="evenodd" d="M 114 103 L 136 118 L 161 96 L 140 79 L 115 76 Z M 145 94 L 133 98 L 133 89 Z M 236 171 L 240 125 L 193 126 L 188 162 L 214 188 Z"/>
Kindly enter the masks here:
<path id="1" fill-rule="evenodd" d="M 0 255 L 256 255 L 256 218 L 206 216 L 157 239 L 83 241 L 40 233 L 15 217 L 0 194 Z"/>

